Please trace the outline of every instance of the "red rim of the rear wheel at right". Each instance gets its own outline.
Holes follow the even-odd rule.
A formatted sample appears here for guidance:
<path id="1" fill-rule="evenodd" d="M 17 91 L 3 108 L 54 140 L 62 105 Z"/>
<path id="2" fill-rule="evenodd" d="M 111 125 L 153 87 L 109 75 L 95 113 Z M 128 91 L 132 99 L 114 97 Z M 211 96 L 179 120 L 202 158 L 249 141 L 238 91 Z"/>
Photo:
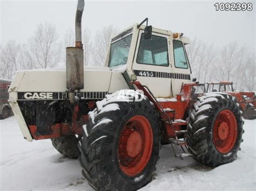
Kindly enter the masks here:
<path id="1" fill-rule="evenodd" d="M 221 153 L 232 150 L 237 140 L 237 120 L 232 111 L 222 110 L 215 119 L 213 126 L 213 143 Z"/>

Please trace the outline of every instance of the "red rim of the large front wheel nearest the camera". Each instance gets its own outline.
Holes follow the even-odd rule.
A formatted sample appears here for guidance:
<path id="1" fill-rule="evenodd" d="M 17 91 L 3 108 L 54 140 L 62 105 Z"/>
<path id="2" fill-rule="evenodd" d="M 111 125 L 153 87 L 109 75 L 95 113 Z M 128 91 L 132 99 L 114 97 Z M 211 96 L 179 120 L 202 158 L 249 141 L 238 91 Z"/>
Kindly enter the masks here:
<path id="1" fill-rule="evenodd" d="M 132 117 L 124 126 L 118 142 L 118 161 L 122 171 L 135 176 L 143 171 L 150 160 L 153 131 L 144 116 Z"/>

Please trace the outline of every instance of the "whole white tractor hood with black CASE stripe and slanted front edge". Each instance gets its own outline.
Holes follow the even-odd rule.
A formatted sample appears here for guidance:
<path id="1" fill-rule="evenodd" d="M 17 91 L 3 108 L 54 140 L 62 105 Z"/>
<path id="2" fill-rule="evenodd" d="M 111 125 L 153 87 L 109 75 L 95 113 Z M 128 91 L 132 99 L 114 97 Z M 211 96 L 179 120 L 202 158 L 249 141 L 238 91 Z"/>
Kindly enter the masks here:
<path id="1" fill-rule="evenodd" d="M 108 67 L 85 67 L 84 89 L 81 90 L 83 98 L 102 100 L 108 93 L 128 89 L 122 72 Z M 32 137 L 19 103 L 41 100 L 55 103 L 65 100 L 67 95 L 65 69 L 24 70 L 16 73 L 9 88 L 9 103 L 26 140 L 32 141 Z"/>

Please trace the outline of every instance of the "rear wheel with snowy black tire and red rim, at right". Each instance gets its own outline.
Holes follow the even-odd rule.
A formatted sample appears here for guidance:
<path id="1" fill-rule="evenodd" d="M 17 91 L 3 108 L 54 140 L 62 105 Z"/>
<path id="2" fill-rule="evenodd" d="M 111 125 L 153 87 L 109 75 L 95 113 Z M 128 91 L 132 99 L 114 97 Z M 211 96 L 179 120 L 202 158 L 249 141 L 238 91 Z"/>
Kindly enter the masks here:
<path id="1" fill-rule="evenodd" d="M 211 167 L 237 158 L 242 142 L 242 116 L 231 95 L 208 93 L 198 97 L 190 114 L 187 142 L 194 159 Z"/>

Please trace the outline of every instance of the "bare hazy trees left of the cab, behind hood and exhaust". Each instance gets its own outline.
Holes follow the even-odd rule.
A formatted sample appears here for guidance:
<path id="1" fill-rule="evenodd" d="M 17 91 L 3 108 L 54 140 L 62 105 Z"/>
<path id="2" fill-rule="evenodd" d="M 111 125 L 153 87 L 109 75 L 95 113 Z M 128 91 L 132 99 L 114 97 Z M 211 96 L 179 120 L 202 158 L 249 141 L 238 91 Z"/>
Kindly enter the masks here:
<path id="1" fill-rule="evenodd" d="M 83 30 L 85 66 L 103 65 L 110 38 L 117 32 L 113 25 L 93 36 L 89 29 Z M 0 47 L 0 78 L 12 79 L 17 70 L 65 67 L 65 47 L 69 46 L 75 46 L 75 31 L 69 29 L 61 36 L 55 25 L 41 23 L 27 43 L 9 40 Z"/>

